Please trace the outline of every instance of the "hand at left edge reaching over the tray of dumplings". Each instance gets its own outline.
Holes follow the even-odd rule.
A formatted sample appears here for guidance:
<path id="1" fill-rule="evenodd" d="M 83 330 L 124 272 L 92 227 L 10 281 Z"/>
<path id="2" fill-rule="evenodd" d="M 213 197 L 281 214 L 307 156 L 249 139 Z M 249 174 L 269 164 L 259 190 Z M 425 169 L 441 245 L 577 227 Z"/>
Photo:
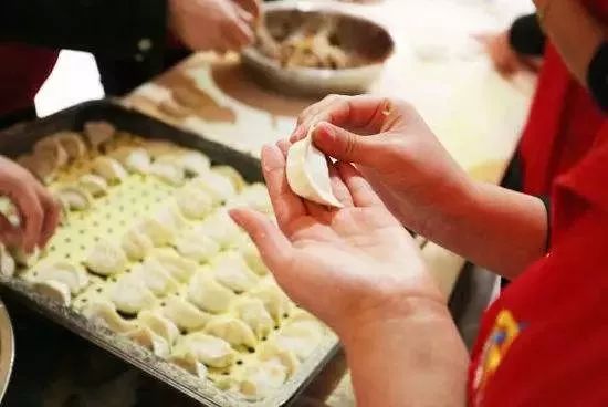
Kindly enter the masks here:
<path id="1" fill-rule="evenodd" d="M 60 209 L 53 197 L 24 168 L 0 157 L 0 194 L 17 207 L 21 222 L 13 226 L 0 216 L 0 240 L 9 247 L 31 252 L 43 248 L 59 223 Z"/>

